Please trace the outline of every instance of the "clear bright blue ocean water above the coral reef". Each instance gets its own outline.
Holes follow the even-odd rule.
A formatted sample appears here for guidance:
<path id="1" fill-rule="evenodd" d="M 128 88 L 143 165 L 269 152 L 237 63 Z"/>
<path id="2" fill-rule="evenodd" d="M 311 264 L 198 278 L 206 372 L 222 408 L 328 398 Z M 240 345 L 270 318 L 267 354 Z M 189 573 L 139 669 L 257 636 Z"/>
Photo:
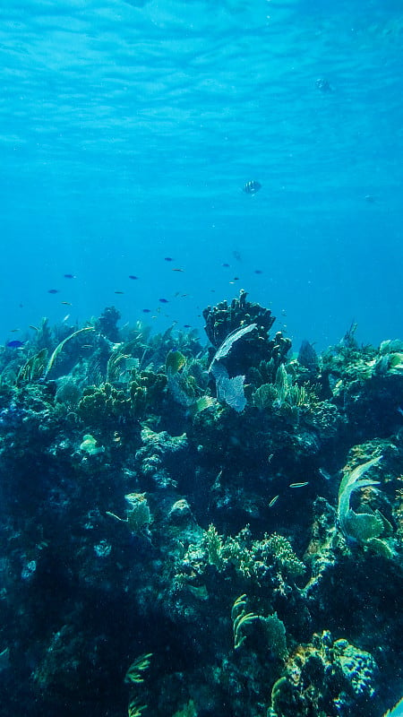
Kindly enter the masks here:
<path id="1" fill-rule="evenodd" d="M 352 321 L 401 335 L 400 2 L 4 0 L 0 19 L 0 342 L 111 305 L 201 327 L 241 288 L 296 348 Z"/>

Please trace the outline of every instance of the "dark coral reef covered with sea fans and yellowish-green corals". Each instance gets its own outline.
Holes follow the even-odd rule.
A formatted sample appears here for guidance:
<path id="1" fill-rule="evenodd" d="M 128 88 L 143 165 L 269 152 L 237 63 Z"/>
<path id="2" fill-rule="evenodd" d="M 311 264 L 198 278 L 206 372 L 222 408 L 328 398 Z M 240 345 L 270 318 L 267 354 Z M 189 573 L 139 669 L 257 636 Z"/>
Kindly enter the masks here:
<path id="1" fill-rule="evenodd" d="M 207 347 L 114 307 L 0 347 L 2 714 L 401 697 L 403 343 L 296 358 L 244 291 L 203 315 Z"/>

